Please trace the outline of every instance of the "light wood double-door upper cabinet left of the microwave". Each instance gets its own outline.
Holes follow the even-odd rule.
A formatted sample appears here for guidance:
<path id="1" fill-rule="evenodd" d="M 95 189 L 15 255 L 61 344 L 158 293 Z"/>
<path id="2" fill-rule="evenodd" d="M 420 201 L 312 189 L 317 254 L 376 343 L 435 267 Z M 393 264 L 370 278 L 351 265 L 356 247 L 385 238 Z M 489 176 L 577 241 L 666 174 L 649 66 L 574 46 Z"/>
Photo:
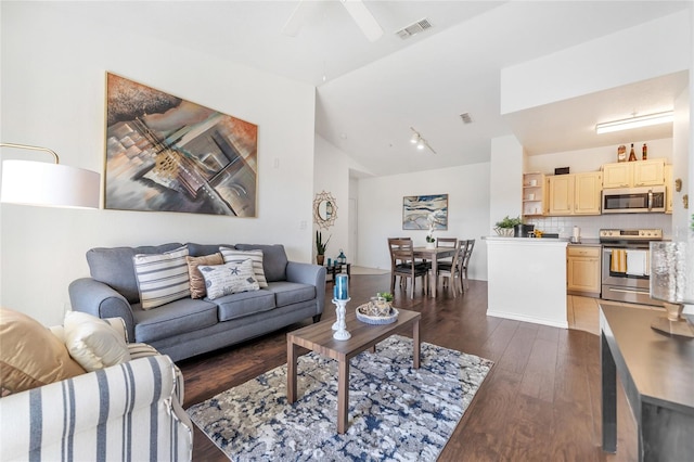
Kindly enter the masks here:
<path id="1" fill-rule="evenodd" d="M 602 183 L 600 171 L 548 177 L 548 215 L 600 215 Z"/>

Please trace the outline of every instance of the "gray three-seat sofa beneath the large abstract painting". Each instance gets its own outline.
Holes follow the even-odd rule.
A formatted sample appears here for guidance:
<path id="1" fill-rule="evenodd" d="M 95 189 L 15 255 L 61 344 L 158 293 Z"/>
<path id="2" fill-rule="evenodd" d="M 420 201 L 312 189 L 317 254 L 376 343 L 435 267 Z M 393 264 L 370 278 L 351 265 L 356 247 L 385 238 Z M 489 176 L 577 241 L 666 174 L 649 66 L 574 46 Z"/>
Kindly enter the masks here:
<path id="1" fill-rule="evenodd" d="M 91 278 L 69 285 L 74 310 L 100 318 L 123 318 L 130 342 L 146 343 L 175 361 L 237 344 L 306 318 L 319 321 L 325 301 L 325 268 L 288 261 L 283 245 L 235 244 L 261 249 L 268 287 L 207 298 L 182 298 L 144 310 L 140 305 L 132 257 L 181 247 L 169 243 L 144 247 L 92 248 Z M 220 245 L 185 244 L 191 256 L 219 252 Z"/>

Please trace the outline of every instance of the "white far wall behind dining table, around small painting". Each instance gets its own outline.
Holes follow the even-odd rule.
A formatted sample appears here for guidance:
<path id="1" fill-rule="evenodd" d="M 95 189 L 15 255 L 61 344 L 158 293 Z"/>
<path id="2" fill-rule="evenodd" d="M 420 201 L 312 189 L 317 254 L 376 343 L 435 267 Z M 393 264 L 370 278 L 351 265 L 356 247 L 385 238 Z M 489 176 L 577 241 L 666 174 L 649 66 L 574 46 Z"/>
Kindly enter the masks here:
<path id="1" fill-rule="evenodd" d="M 359 252 L 357 261 L 370 268 L 390 268 L 388 238 L 411 236 L 425 245 L 426 230 L 402 230 L 402 197 L 448 194 L 448 230 L 434 236 L 475 239 L 470 278 L 487 280 L 487 248 L 480 238 L 489 235 L 488 163 L 416 174 L 359 180 Z"/>

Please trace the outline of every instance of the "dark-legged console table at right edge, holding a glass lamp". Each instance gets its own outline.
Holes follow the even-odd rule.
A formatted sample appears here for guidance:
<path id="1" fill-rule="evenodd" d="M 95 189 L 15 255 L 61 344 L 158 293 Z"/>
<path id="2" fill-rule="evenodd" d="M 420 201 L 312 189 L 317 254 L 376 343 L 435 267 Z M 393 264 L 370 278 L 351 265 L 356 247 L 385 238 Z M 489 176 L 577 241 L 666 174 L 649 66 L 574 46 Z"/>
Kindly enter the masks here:
<path id="1" fill-rule="evenodd" d="M 694 341 L 664 335 L 665 312 L 600 304 L 603 451 L 617 450 L 617 374 L 639 432 L 640 461 L 694 454 Z"/>

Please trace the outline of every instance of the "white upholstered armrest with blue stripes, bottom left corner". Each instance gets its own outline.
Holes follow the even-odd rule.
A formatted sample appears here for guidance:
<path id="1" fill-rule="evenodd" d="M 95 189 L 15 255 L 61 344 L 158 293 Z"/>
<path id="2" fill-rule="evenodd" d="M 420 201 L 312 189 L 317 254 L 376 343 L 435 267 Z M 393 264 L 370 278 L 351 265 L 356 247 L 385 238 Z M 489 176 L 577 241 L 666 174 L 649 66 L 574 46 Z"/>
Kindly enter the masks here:
<path id="1" fill-rule="evenodd" d="M 191 421 L 168 356 L 0 399 L 0 460 L 190 460 Z"/>

